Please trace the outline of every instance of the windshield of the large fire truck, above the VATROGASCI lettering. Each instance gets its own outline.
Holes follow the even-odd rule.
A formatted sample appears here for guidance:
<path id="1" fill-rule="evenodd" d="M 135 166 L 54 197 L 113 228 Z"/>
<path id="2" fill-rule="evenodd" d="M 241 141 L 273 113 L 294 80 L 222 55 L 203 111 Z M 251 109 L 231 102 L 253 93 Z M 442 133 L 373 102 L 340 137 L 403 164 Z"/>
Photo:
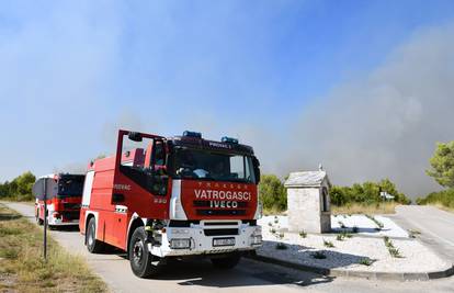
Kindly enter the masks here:
<path id="1" fill-rule="evenodd" d="M 249 156 L 178 148 L 174 167 L 180 178 L 256 183 Z"/>

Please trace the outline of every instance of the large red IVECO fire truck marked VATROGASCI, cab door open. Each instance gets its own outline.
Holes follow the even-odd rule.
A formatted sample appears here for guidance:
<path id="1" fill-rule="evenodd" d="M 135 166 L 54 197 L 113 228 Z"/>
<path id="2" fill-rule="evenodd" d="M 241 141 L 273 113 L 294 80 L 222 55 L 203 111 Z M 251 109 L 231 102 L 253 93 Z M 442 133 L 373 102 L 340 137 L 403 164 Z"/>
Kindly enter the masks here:
<path id="1" fill-rule="evenodd" d="M 259 180 L 252 148 L 235 138 L 120 131 L 116 156 L 90 164 L 80 232 L 90 252 L 105 244 L 127 251 L 140 278 L 172 257 L 232 268 L 262 243 Z"/>

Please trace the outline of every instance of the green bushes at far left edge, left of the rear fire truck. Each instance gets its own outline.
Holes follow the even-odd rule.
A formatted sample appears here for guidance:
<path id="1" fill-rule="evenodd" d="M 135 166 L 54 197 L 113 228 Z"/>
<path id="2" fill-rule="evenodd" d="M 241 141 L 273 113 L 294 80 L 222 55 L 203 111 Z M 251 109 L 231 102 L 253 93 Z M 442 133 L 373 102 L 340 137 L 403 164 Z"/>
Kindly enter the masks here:
<path id="1" fill-rule="evenodd" d="M 36 177 L 26 171 L 13 180 L 0 183 L 0 200 L 5 201 L 33 201 L 32 187 Z"/>

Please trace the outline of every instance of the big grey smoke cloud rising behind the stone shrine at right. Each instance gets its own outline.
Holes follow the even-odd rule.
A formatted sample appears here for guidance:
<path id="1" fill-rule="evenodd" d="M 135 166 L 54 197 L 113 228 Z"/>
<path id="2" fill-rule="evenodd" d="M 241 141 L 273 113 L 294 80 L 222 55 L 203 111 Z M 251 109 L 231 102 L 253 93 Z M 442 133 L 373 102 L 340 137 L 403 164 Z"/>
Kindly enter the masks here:
<path id="1" fill-rule="evenodd" d="M 439 189 L 424 170 L 435 142 L 454 139 L 454 25 L 423 30 L 370 75 L 303 110 L 291 149 L 269 170 L 317 168 L 336 184 L 389 178 L 410 196 Z M 282 149 L 282 147 L 281 147 Z"/>

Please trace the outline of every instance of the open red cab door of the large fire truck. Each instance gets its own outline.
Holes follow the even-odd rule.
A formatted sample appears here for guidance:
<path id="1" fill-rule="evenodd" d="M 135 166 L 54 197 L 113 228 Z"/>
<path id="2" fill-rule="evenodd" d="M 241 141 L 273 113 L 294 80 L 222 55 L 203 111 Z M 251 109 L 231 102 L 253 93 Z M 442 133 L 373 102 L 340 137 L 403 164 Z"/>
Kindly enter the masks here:
<path id="1" fill-rule="evenodd" d="M 141 218 L 167 218 L 168 179 L 166 170 L 158 170 L 156 165 L 161 157 L 159 164 L 164 165 L 164 143 L 163 137 L 152 134 L 118 132 L 111 201 L 115 206 L 114 241 L 121 247 L 125 246 L 133 214 Z M 162 153 L 157 154 L 159 148 Z"/>

